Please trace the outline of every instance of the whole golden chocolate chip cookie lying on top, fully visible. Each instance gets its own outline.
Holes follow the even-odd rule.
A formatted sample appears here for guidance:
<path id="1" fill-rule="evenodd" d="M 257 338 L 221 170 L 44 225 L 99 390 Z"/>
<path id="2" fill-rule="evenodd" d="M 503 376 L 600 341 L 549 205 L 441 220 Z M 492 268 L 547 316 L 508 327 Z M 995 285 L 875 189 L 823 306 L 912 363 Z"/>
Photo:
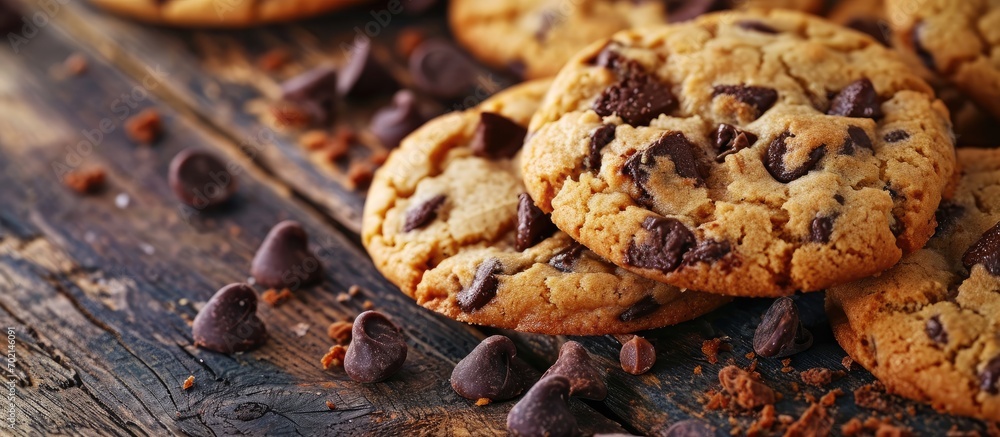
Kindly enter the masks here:
<path id="1" fill-rule="evenodd" d="M 739 296 L 815 291 L 921 248 L 954 174 L 948 111 L 867 35 L 792 11 L 623 31 L 560 72 L 528 192 L 615 264 Z"/>

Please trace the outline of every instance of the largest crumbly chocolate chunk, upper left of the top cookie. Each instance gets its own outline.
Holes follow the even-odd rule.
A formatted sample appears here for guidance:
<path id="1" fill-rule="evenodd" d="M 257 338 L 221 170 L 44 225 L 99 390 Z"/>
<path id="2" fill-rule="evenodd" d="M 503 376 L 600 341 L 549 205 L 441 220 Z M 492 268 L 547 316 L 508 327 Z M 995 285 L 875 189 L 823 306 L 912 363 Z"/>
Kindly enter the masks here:
<path id="1" fill-rule="evenodd" d="M 646 73 L 635 61 L 617 83 L 605 88 L 594 102 L 594 112 L 601 117 L 617 114 L 633 126 L 645 126 L 660 114 L 677 107 L 677 99 L 670 87 Z"/>

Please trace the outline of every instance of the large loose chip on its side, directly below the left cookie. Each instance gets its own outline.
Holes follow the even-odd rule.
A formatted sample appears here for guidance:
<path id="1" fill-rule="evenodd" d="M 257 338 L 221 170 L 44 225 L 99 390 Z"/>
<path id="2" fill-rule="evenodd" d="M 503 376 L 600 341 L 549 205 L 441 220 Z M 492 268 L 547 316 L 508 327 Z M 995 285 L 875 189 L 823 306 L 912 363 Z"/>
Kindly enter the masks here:
<path id="1" fill-rule="evenodd" d="M 503 401 L 514 398 L 532 383 L 528 365 L 516 355 L 517 348 L 509 338 L 487 337 L 455 366 L 451 372 L 451 387 L 466 399 Z"/>

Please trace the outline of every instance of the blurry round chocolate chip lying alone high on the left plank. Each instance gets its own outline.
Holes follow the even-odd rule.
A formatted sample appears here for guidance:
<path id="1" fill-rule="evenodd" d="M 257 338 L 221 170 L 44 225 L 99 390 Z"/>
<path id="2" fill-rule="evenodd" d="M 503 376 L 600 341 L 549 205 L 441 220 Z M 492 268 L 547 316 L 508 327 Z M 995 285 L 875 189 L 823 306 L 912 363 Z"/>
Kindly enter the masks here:
<path id="1" fill-rule="evenodd" d="M 236 192 L 236 177 L 215 155 L 184 149 L 170 161 L 168 184 L 181 202 L 197 209 L 229 200 Z"/>

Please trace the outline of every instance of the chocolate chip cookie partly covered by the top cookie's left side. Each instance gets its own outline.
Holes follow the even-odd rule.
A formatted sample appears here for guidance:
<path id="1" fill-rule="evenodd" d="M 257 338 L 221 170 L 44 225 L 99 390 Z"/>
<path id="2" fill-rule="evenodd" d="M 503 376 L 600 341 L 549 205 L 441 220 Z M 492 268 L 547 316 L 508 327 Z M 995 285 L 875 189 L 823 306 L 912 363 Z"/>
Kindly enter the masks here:
<path id="1" fill-rule="evenodd" d="M 534 206 L 518 159 L 548 86 L 531 82 L 441 116 L 389 156 L 363 215 L 378 269 L 450 318 L 546 334 L 633 332 L 726 302 L 617 268 Z"/>

